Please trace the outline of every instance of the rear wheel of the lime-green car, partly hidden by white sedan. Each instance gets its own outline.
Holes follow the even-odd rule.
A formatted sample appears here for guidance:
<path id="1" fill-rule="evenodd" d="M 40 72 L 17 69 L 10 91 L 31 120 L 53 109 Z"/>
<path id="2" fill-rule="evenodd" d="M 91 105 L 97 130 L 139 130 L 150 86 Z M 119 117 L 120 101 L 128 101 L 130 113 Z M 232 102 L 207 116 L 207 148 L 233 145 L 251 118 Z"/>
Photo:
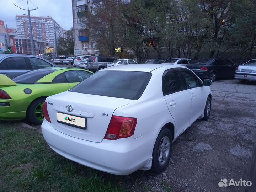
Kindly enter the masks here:
<path id="1" fill-rule="evenodd" d="M 45 97 L 38 98 L 34 100 L 27 110 L 28 119 L 34 124 L 42 124 L 43 123 L 43 103 L 45 101 Z"/>

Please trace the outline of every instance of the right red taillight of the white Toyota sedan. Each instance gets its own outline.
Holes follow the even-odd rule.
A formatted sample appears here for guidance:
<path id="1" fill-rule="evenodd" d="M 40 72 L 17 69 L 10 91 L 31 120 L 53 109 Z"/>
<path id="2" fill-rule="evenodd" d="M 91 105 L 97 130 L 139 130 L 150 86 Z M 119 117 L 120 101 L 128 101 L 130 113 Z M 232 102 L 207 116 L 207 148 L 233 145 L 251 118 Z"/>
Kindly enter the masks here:
<path id="1" fill-rule="evenodd" d="M 104 139 L 116 140 L 133 135 L 137 119 L 132 117 L 112 116 Z"/>

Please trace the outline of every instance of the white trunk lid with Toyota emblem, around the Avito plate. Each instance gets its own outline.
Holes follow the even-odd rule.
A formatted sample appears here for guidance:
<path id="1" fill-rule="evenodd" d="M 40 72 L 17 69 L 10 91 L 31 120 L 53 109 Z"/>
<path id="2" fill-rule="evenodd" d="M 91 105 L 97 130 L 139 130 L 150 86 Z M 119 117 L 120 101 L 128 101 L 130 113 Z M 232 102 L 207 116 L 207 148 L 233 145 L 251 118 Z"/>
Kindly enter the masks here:
<path id="1" fill-rule="evenodd" d="M 101 142 L 104 138 L 112 114 L 116 108 L 127 105 L 134 100 L 114 98 L 98 95 L 89 95 L 66 91 L 46 100 L 49 117 L 54 129 L 71 137 L 91 142 Z M 52 104 L 49 104 L 52 103 Z M 66 107 L 73 106 L 68 112 Z M 57 112 L 67 116 L 86 118 L 85 129 L 57 122 Z"/>

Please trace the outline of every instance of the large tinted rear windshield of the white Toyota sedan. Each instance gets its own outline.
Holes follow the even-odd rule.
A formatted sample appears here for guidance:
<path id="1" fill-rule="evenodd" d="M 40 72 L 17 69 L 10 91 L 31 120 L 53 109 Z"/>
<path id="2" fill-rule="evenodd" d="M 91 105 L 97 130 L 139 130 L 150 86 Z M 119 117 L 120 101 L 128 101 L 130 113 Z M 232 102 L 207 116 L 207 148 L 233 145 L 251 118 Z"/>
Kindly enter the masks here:
<path id="1" fill-rule="evenodd" d="M 151 75 L 137 71 L 98 71 L 69 91 L 138 100 Z"/>

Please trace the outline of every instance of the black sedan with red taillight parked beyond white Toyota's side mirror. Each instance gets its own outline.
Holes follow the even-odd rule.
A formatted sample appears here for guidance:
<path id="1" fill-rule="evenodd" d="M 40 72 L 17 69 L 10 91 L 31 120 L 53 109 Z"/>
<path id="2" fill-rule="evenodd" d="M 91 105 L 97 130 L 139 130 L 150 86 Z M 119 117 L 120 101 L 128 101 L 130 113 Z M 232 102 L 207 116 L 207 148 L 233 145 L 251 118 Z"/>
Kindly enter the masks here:
<path id="1" fill-rule="evenodd" d="M 187 68 L 199 78 L 215 81 L 217 78 L 234 78 L 236 66 L 227 59 L 204 58 L 187 65 Z"/>

